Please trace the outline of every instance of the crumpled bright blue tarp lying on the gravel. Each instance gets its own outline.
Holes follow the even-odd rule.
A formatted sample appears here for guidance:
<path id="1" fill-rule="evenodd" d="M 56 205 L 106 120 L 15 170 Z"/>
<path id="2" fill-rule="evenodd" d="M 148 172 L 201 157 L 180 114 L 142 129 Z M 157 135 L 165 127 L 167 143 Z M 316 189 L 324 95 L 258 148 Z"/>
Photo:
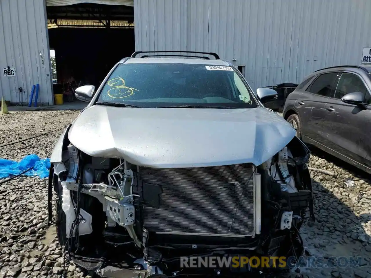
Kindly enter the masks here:
<path id="1" fill-rule="evenodd" d="M 23 175 L 39 176 L 40 179 L 49 176 L 50 158 L 40 159 L 39 156 L 33 154 L 25 156 L 20 162 L 0 158 L 0 179 L 18 175 L 32 166 L 33 169 Z"/>

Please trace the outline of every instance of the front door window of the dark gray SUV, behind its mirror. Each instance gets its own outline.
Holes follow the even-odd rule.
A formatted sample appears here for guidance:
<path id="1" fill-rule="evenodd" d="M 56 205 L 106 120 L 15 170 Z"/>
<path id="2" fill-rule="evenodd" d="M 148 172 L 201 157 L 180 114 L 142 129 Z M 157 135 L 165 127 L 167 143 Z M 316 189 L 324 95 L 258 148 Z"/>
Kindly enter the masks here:
<path id="1" fill-rule="evenodd" d="M 335 90 L 335 99 L 341 99 L 347 93 L 361 92 L 365 98 L 369 95 L 367 87 L 362 79 L 353 73 L 344 72 L 339 78 L 338 85 Z M 368 100 L 369 101 L 369 100 Z"/>

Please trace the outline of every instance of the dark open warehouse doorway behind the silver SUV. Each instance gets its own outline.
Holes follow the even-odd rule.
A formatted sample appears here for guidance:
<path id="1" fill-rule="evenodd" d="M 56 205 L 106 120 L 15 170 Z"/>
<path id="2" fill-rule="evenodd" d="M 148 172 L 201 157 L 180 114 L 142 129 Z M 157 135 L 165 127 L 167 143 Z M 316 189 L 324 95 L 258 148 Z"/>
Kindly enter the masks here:
<path id="1" fill-rule="evenodd" d="M 50 6 L 53 2 L 58 6 Z M 64 102 L 75 100 L 78 86 L 98 88 L 115 63 L 135 51 L 133 6 L 126 0 L 47 2 L 49 48 L 57 76 L 53 92 L 63 93 Z"/>

